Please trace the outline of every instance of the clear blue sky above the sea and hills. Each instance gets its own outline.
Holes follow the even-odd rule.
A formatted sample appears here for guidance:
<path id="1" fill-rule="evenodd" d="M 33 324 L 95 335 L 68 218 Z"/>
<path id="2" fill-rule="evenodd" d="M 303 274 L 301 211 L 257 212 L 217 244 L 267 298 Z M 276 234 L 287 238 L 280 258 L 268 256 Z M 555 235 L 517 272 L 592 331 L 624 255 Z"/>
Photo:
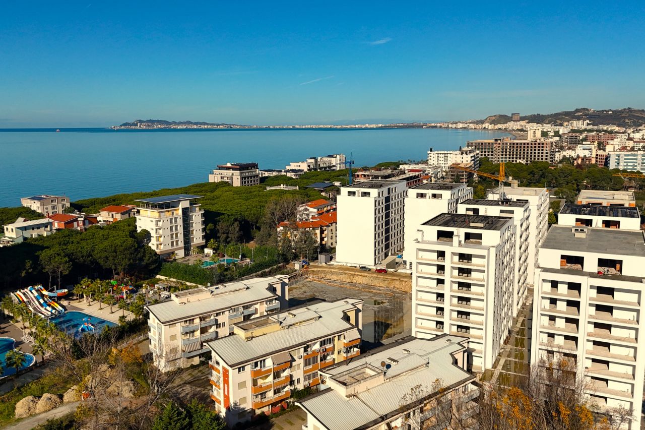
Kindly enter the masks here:
<path id="1" fill-rule="evenodd" d="M 4 2 L 0 128 L 645 107 L 645 2 Z"/>

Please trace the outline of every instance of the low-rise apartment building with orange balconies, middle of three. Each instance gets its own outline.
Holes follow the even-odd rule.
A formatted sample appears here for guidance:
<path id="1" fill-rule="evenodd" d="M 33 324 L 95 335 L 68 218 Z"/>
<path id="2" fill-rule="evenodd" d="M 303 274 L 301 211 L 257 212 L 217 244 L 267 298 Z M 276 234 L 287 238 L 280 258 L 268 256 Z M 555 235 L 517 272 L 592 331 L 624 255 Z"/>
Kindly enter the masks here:
<path id="1" fill-rule="evenodd" d="M 357 356 L 361 309 L 349 298 L 292 308 L 235 323 L 232 335 L 208 342 L 210 396 L 228 425 L 317 387 L 320 369 Z"/>

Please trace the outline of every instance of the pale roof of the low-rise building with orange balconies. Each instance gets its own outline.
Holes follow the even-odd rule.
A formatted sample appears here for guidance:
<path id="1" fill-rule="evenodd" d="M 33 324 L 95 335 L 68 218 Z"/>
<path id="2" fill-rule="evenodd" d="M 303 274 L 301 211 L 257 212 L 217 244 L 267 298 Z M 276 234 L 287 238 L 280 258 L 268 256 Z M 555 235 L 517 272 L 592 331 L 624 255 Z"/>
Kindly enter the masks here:
<path id="1" fill-rule="evenodd" d="M 208 342 L 208 347 L 232 367 L 281 351 L 292 351 L 313 340 L 355 328 L 343 316 L 345 311 L 356 309 L 361 303 L 360 299 L 341 299 L 253 318 L 236 326 L 248 330 L 253 329 L 253 325 L 260 327 L 279 323 L 280 328 L 249 340 L 244 340 L 239 334 L 232 334 Z"/>

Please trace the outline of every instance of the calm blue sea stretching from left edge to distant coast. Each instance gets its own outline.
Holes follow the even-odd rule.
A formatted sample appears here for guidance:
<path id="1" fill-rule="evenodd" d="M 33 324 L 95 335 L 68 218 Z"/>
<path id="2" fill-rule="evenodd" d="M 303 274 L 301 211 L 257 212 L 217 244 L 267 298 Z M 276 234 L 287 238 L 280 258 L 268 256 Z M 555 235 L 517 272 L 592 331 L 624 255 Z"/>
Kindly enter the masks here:
<path id="1" fill-rule="evenodd" d="M 378 130 L 0 129 L 0 207 L 34 194 L 72 201 L 208 180 L 228 161 L 284 169 L 291 161 L 352 154 L 355 166 L 425 159 L 428 148 L 456 149 L 504 133 L 437 128 Z"/>

